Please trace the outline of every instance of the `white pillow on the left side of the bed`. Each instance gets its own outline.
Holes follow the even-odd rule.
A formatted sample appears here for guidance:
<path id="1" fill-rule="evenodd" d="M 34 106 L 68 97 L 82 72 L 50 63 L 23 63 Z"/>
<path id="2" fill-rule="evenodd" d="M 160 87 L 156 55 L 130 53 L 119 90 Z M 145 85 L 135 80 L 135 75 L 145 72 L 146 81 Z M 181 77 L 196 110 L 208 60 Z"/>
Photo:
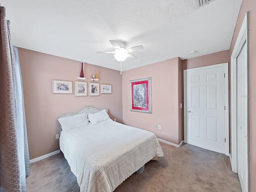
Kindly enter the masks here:
<path id="1" fill-rule="evenodd" d="M 60 122 L 62 130 L 68 130 L 75 127 L 82 127 L 90 124 L 86 113 L 81 113 L 78 115 L 68 116 L 68 117 L 61 117 L 58 118 Z"/>

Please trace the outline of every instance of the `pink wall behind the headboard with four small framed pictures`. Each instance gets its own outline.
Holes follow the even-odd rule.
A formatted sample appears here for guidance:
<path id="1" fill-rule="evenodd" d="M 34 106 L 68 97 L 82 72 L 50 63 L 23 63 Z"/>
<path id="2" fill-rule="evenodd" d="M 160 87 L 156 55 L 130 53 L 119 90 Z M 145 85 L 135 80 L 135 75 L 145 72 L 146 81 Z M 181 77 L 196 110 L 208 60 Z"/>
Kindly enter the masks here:
<path id="1" fill-rule="evenodd" d="M 89 82 L 98 69 L 100 83 L 112 84 L 112 94 L 75 97 L 75 94 L 52 94 L 52 79 L 77 80 L 81 63 L 40 52 L 19 48 L 24 88 L 24 102 L 28 130 L 30 159 L 59 149 L 57 118 L 62 113 L 76 112 L 90 105 L 108 108 L 110 118 L 122 122 L 122 76 L 120 72 L 91 64 L 84 64 L 84 76 Z M 89 83 L 88 83 L 89 86 Z"/>

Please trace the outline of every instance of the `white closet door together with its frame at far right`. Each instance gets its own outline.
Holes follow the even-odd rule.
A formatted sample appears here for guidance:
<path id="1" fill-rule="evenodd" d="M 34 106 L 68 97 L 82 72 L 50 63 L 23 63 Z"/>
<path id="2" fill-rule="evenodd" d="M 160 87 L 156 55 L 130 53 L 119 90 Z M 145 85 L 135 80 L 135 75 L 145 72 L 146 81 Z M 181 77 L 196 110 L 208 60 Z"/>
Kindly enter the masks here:
<path id="1" fill-rule="evenodd" d="M 242 192 L 249 191 L 249 12 L 246 12 L 231 54 L 231 154 L 232 171 L 238 173 Z"/>

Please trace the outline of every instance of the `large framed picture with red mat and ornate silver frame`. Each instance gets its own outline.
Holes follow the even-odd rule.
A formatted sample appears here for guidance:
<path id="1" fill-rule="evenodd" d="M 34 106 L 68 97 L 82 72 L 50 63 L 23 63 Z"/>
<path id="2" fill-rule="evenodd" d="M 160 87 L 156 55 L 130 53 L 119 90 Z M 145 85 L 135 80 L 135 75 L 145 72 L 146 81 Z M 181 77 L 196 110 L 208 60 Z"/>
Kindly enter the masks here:
<path id="1" fill-rule="evenodd" d="M 152 113 L 151 77 L 130 81 L 131 111 Z"/>

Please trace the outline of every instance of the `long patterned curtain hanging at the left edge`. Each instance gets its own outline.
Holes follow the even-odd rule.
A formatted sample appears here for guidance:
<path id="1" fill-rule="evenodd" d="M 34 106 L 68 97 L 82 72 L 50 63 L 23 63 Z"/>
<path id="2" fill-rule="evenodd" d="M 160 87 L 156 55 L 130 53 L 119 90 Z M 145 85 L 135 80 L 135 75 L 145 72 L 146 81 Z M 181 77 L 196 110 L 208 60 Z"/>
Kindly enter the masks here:
<path id="1" fill-rule="evenodd" d="M 0 192 L 25 192 L 28 139 L 18 49 L 0 7 Z"/>

